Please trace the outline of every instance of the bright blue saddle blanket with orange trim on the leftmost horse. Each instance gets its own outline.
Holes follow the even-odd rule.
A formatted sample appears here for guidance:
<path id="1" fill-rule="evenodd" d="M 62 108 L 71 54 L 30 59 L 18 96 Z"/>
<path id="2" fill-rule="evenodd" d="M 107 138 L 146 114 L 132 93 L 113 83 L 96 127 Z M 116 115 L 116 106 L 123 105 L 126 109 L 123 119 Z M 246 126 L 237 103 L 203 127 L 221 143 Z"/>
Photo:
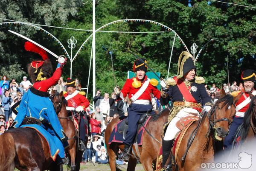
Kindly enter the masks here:
<path id="1" fill-rule="evenodd" d="M 41 134 L 48 143 L 50 156 L 52 157 L 52 160 L 55 161 L 57 154 L 60 152 L 56 145 L 61 143 L 61 140 L 59 140 L 58 137 L 51 135 L 42 126 L 37 124 L 26 124 L 20 126 L 20 128 L 32 128 L 35 129 L 39 134 Z"/>

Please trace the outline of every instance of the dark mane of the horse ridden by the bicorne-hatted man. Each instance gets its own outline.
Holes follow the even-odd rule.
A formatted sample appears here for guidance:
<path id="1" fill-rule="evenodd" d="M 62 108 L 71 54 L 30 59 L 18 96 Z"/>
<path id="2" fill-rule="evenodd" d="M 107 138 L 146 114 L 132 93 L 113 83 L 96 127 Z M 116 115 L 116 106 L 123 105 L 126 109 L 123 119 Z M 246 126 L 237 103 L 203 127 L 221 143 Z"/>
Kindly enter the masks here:
<path id="1" fill-rule="evenodd" d="M 212 114 L 214 114 L 216 108 L 218 107 L 218 104 L 220 104 L 221 102 L 224 102 L 224 104 L 222 104 L 221 108 L 223 108 L 223 107 L 226 105 L 226 109 L 228 109 L 228 107 L 229 107 L 230 105 L 233 105 L 233 104 L 234 104 L 234 98 L 233 98 L 232 95 L 225 95 L 224 97 L 219 98 L 219 99 L 215 102 L 215 104 L 213 105 L 212 109 L 209 111 L 209 112 L 210 112 L 210 115 L 209 115 L 208 112 L 205 112 L 202 119 L 206 118 L 207 115 L 209 115 L 209 117 L 210 117 Z M 211 133 L 211 130 L 212 130 L 212 127 L 211 127 L 211 125 L 209 124 L 209 128 L 208 128 L 208 131 L 207 131 L 207 135 L 205 136 L 205 137 L 207 138 L 207 140 L 206 140 L 206 143 L 205 143 L 205 148 L 204 148 L 204 150 L 207 150 L 208 147 L 209 147 L 209 140 L 210 140 L 209 137 L 210 137 L 210 135 L 211 135 L 211 134 L 210 134 L 210 133 Z"/>

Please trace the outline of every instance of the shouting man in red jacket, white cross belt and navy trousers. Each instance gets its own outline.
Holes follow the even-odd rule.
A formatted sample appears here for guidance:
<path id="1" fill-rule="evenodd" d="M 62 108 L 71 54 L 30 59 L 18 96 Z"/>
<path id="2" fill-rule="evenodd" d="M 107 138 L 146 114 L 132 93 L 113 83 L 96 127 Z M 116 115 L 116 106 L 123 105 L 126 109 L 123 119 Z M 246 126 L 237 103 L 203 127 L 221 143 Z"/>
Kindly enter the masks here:
<path id="1" fill-rule="evenodd" d="M 146 59 L 142 59 L 147 63 Z M 115 87 L 115 93 L 120 98 L 124 99 L 128 95 L 131 100 L 131 105 L 128 108 L 128 131 L 123 143 L 124 148 L 124 160 L 128 162 L 128 149 L 134 142 L 134 137 L 137 133 L 137 122 L 139 121 L 140 115 L 150 112 L 154 113 L 151 101 L 151 93 L 156 97 L 160 98 L 160 91 L 157 90 L 158 81 L 156 79 L 149 79 L 145 73 L 147 72 L 147 66 L 140 60 L 134 62 L 133 71 L 136 72 L 136 77 L 127 79 L 122 90 L 119 90 L 119 86 Z"/>

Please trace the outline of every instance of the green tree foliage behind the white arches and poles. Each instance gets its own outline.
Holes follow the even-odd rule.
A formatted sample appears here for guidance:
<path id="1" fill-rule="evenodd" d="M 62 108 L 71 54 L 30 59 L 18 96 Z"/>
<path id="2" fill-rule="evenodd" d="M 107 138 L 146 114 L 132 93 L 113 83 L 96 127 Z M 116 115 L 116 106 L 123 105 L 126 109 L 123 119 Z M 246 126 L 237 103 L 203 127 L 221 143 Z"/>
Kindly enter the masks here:
<path id="1" fill-rule="evenodd" d="M 245 6 L 254 6 L 253 0 L 235 1 Z M 67 0 L 30 0 L 0 3 L 0 17 L 24 22 L 55 25 L 68 28 L 92 29 L 92 2 Z M 229 59 L 230 81 L 240 81 L 241 71 L 254 69 L 256 64 L 256 16 L 254 8 L 244 8 L 229 4 L 202 0 L 97 0 L 96 28 L 120 19 L 146 19 L 160 22 L 172 28 L 183 39 L 190 50 L 193 42 L 198 45 L 197 51 L 210 42 L 202 50 L 197 65 L 197 74 L 204 76 L 207 84 L 217 83 L 220 86 L 227 82 L 227 56 Z M 76 48 L 90 36 L 90 31 L 74 31 L 59 28 L 46 28 L 55 35 L 67 48 L 67 39 L 77 39 Z M 45 45 L 56 54 L 63 54 L 60 46 L 46 34 L 25 25 L 2 25 L 0 30 L 0 67 L 10 68 L 16 65 L 26 71 L 26 64 L 36 56 L 24 52 L 23 43 L 17 36 L 7 33 L 8 29 L 18 31 L 25 36 Z M 155 71 L 166 77 L 171 54 L 174 33 L 159 25 L 149 22 L 119 22 L 103 28 L 104 31 L 164 31 L 164 33 L 96 34 L 96 87 L 103 92 L 113 90 L 115 81 L 111 67 L 113 52 L 113 68 L 117 84 L 121 87 L 127 77 L 127 70 L 132 70 L 136 59 L 126 50 L 131 49 L 144 56 Z M 102 47 L 107 48 L 104 50 Z M 180 41 L 175 39 L 169 76 L 177 74 L 177 60 L 186 50 Z M 82 87 L 87 86 L 91 55 L 89 40 L 73 62 L 73 78 L 79 78 Z M 29 56 L 29 58 L 28 58 Z M 53 58 L 52 58 L 53 59 Z M 52 60 L 54 62 L 54 59 Z M 22 69 L 24 68 L 24 69 Z M 1 70 L 3 72 L 3 69 Z M 90 72 L 89 94 L 92 95 L 92 70 Z M 70 63 L 64 68 L 64 78 L 70 75 Z"/>

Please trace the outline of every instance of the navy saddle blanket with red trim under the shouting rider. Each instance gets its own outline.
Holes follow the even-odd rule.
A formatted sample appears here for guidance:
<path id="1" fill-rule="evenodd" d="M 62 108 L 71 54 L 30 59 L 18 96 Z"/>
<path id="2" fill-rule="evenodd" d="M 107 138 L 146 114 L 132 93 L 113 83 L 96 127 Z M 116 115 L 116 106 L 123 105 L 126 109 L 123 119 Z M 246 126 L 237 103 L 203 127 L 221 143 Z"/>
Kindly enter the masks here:
<path id="1" fill-rule="evenodd" d="M 148 121 L 149 121 L 150 118 L 151 118 L 151 116 L 149 116 L 149 117 L 147 118 L 147 121 L 146 121 L 145 124 L 144 124 L 145 127 L 147 126 L 147 123 L 148 123 Z M 124 141 L 124 139 L 123 139 L 123 133 L 118 132 L 118 129 L 119 129 L 119 127 L 122 125 L 121 123 L 122 123 L 122 122 L 125 122 L 125 120 L 126 120 L 126 118 L 123 119 L 123 120 L 121 120 L 121 121 L 119 121 L 119 122 L 116 124 L 115 128 L 114 128 L 113 131 L 111 132 L 111 135 L 110 135 L 110 137 L 109 137 L 108 144 L 111 144 L 111 143 L 113 143 L 113 142 L 115 142 L 115 143 L 123 143 L 123 141 Z M 143 139 L 144 131 L 145 131 L 144 127 L 141 126 L 141 128 L 140 128 L 139 131 L 138 131 L 138 136 L 137 136 L 137 143 L 138 143 L 138 146 L 141 146 L 141 145 L 142 145 L 142 139 Z"/>

